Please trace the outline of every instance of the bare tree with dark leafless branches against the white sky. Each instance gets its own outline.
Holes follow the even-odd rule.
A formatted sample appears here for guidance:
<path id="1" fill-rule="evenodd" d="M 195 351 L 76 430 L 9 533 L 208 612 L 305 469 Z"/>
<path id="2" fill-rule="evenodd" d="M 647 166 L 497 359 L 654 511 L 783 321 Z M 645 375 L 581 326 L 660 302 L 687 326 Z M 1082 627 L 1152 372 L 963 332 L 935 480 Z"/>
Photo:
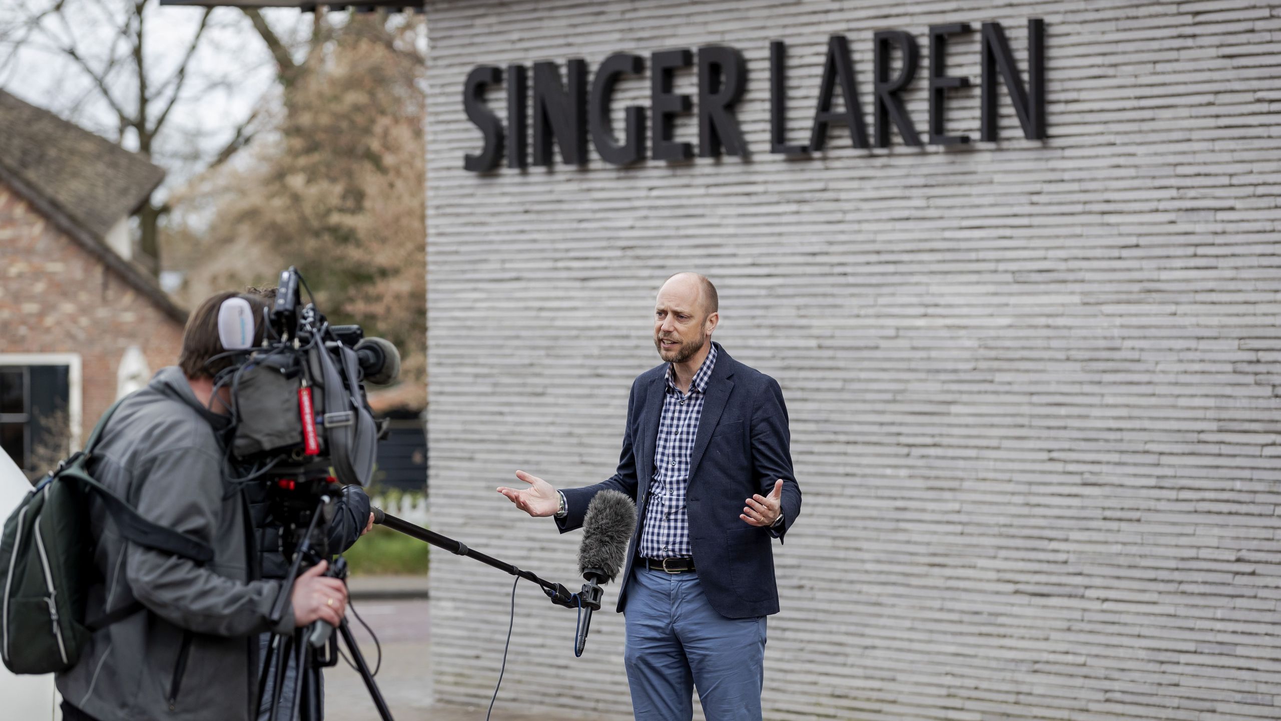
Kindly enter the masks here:
<path id="1" fill-rule="evenodd" d="M 159 0 L 0 5 L 0 80 L 22 85 L 28 76 L 47 76 L 28 83 L 41 89 L 29 95 L 44 95 L 32 100 L 145 154 L 170 180 L 188 174 L 187 165 L 225 162 L 252 136 L 257 119 L 252 109 L 220 123 L 197 112 L 205 108 L 209 115 L 208 109 L 216 106 L 214 96 L 227 100 L 228 86 L 237 76 L 243 82 L 251 69 L 243 53 L 237 55 L 242 49 L 234 40 L 237 27 L 246 24 L 238 12 L 175 13 L 161 10 Z M 214 55 L 227 60 L 218 63 Z M 169 212 L 163 196 L 156 194 L 138 213 L 138 260 L 154 272 L 160 221 Z"/>

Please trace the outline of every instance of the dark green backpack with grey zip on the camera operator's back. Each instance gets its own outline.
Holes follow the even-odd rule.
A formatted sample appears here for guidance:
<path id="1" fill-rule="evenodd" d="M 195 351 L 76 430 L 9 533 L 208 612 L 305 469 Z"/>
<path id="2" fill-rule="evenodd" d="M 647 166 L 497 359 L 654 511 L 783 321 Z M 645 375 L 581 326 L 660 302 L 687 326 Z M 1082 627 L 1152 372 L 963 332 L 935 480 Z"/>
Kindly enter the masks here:
<path id="1" fill-rule="evenodd" d="M 88 475 L 94 449 L 119 404 L 102 414 L 85 450 L 59 463 L 4 523 L 0 657 L 14 674 L 68 670 L 76 666 L 94 631 L 142 609 L 135 600 L 101 617 L 85 618 L 88 589 L 101 579 L 92 561 L 90 495 L 104 503 L 122 538 L 197 563 L 214 558 L 209 545 L 147 521 Z"/>

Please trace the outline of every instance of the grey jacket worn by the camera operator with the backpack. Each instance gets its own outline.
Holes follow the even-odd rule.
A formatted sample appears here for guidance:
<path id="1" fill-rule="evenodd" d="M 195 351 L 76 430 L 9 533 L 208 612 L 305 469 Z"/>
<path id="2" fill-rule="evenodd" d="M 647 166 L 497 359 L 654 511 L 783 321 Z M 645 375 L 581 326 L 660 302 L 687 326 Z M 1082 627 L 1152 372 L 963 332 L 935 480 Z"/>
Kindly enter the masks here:
<path id="1" fill-rule="evenodd" d="M 254 580 L 252 529 L 240 489 L 223 477 L 218 434 L 177 367 L 117 409 L 90 462 L 94 476 L 147 520 L 214 549 L 200 564 L 126 543 L 91 500 L 97 547 L 87 618 L 133 599 L 145 611 L 94 634 L 79 662 L 58 675 L 72 706 L 100 721 L 256 718 L 257 638 L 279 581 Z M 274 630 L 290 631 L 293 612 Z"/>

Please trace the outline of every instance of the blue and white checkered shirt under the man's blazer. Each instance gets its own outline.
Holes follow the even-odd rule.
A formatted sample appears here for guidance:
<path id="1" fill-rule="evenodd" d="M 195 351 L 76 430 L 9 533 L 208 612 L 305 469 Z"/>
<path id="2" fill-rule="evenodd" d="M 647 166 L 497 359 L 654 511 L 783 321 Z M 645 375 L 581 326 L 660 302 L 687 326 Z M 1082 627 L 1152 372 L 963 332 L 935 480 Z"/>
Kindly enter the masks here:
<path id="1" fill-rule="evenodd" d="M 689 558 L 689 511 L 685 489 L 689 486 L 689 455 L 694 452 L 698 418 L 703 414 L 707 381 L 716 367 L 716 346 L 711 346 L 702 367 L 689 384 L 689 393 L 676 387 L 676 376 L 667 366 L 667 387 L 662 398 L 662 418 L 653 449 L 653 477 L 649 500 L 644 509 L 640 532 L 642 558 Z"/>

